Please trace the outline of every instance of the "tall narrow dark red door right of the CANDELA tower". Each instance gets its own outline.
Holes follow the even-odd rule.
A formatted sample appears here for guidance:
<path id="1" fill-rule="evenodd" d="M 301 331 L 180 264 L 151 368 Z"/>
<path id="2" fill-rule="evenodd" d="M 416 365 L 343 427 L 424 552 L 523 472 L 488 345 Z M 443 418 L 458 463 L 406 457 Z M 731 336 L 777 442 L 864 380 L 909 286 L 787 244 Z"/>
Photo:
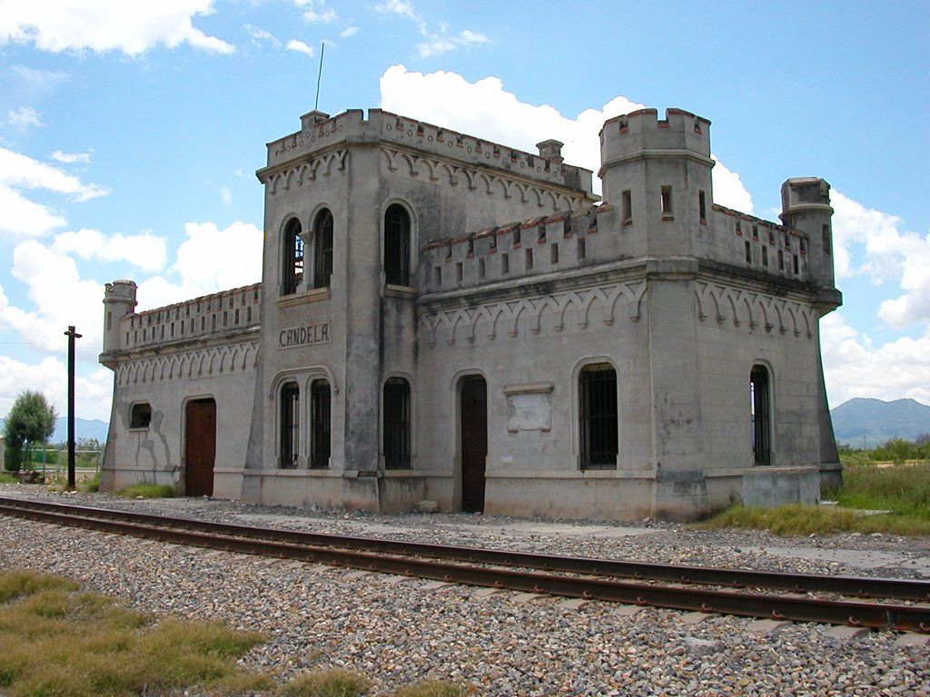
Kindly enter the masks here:
<path id="1" fill-rule="evenodd" d="M 484 377 L 466 377 L 461 390 L 462 510 L 485 510 L 487 459 L 487 384 Z"/>

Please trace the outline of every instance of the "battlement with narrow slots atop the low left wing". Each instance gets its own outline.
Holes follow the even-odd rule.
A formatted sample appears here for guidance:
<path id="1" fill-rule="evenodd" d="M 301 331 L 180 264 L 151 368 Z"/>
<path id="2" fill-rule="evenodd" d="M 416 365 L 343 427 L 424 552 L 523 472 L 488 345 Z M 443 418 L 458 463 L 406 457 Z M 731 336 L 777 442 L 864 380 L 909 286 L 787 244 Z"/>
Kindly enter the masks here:
<path id="1" fill-rule="evenodd" d="M 234 330 L 257 329 L 260 308 L 261 283 L 254 283 L 163 308 L 133 312 L 120 320 L 119 349 L 144 349 Z"/>

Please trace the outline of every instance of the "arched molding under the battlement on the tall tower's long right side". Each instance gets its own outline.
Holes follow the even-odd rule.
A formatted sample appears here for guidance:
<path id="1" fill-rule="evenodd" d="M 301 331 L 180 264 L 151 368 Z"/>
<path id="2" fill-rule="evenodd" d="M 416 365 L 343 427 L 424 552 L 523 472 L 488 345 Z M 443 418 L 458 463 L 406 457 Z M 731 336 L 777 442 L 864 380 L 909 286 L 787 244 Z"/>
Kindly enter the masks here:
<path id="1" fill-rule="evenodd" d="M 480 191 L 499 199 L 519 199 L 521 204 L 536 204 L 551 213 L 571 209 L 587 210 L 590 200 L 583 195 L 569 196 L 543 186 L 504 177 L 497 172 L 485 172 L 411 152 L 382 148 L 388 170 L 405 177 L 444 181 L 450 187 L 464 186 L 469 191 Z"/>

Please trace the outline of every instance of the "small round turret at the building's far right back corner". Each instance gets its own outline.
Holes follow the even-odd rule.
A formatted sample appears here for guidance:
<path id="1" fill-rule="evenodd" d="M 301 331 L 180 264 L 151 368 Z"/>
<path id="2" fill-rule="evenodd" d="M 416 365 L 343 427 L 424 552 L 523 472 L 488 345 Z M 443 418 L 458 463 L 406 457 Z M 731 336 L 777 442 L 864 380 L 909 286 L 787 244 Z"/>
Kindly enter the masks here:
<path id="1" fill-rule="evenodd" d="M 791 178 L 781 185 L 781 222 L 807 235 L 807 266 L 813 283 L 833 287 L 833 230 L 830 184 L 817 177 Z"/>

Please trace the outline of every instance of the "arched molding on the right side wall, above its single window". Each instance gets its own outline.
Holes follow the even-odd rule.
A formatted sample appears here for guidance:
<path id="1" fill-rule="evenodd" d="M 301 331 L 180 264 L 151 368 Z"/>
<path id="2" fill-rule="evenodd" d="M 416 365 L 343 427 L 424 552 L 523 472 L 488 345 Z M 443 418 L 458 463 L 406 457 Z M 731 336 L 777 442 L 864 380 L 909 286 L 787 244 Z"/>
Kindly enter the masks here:
<path id="1" fill-rule="evenodd" d="M 766 334 L 777 330 L 779 334 L 811 339 L 817 326 L 817 310 L 805 303 L 720 283 L 696 283 L 695 302 L 700 322 L 732 322 L 750 332 L 758 327 Z"/>

